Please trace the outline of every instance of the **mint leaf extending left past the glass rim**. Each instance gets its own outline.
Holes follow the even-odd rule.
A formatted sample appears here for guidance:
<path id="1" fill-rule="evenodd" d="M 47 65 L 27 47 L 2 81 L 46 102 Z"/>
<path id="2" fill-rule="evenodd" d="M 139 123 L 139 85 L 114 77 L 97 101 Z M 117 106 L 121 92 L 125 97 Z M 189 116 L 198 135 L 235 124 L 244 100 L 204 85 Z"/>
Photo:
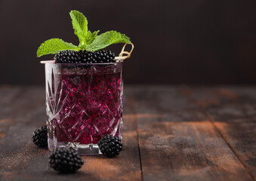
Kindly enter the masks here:
<path id="1" fill-rule="evenodd" d="M 74 44 L 67 43 L 62 39 L 52 38 L 43 42 L 37 50 L 36 54 L 37 57 L 41 57 L 46 54 L 57 54 L 60 51 L 66 50 L 79 51 L 79 47 Z"/>

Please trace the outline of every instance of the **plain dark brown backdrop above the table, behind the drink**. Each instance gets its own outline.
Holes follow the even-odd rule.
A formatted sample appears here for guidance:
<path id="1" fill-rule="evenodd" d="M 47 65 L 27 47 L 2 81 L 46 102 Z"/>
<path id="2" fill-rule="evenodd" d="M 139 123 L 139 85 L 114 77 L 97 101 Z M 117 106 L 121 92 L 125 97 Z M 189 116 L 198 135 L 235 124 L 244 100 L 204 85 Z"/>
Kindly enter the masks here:
<path id="1" fill-rule="evenodd" d="M 256 83 L 255 0 L 1 0 L 0 84 L 44 84 L 39 60 L 52 57 L 35 52 L 48 38 L 78 43 L 72 9 L 88 17 L 91 31 L 131 38 L 126 84 Z"/>

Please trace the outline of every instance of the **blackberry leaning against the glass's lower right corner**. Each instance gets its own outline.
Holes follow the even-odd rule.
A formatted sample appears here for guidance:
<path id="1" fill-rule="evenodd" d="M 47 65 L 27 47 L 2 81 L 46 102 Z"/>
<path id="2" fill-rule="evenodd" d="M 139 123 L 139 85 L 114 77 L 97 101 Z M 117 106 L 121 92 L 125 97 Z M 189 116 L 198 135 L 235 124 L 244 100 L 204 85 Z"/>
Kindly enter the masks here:
<path id="1" fill-rule="evenodd" d="M 107 134 L 97 143 L 103 155 L 113 158 L 122 151 L 122 143 L 118 137 Z"/>

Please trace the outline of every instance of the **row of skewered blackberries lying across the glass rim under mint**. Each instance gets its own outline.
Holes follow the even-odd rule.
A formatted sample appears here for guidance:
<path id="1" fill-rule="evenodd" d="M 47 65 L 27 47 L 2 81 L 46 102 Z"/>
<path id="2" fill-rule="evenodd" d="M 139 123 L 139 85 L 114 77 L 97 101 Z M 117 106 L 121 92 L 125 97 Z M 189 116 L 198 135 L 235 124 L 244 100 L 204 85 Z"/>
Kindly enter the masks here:
<path id="1" fill-rule="evenodd" d="M 115 54 L 111 51 L 60 51 L 55 54 L 56 63 L 115 63 Z"/>

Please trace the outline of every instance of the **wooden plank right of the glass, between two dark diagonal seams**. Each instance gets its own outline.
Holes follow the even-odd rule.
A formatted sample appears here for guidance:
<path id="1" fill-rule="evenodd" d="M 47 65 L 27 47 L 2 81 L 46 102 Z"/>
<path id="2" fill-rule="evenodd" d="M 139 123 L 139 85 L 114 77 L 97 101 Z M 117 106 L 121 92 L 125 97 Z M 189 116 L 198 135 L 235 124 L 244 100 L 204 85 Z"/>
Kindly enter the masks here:
<path id="1" fill-rule="evenodd" d="M 253 180 L 187 87 L 134 89 L 144 180 Z"/>

